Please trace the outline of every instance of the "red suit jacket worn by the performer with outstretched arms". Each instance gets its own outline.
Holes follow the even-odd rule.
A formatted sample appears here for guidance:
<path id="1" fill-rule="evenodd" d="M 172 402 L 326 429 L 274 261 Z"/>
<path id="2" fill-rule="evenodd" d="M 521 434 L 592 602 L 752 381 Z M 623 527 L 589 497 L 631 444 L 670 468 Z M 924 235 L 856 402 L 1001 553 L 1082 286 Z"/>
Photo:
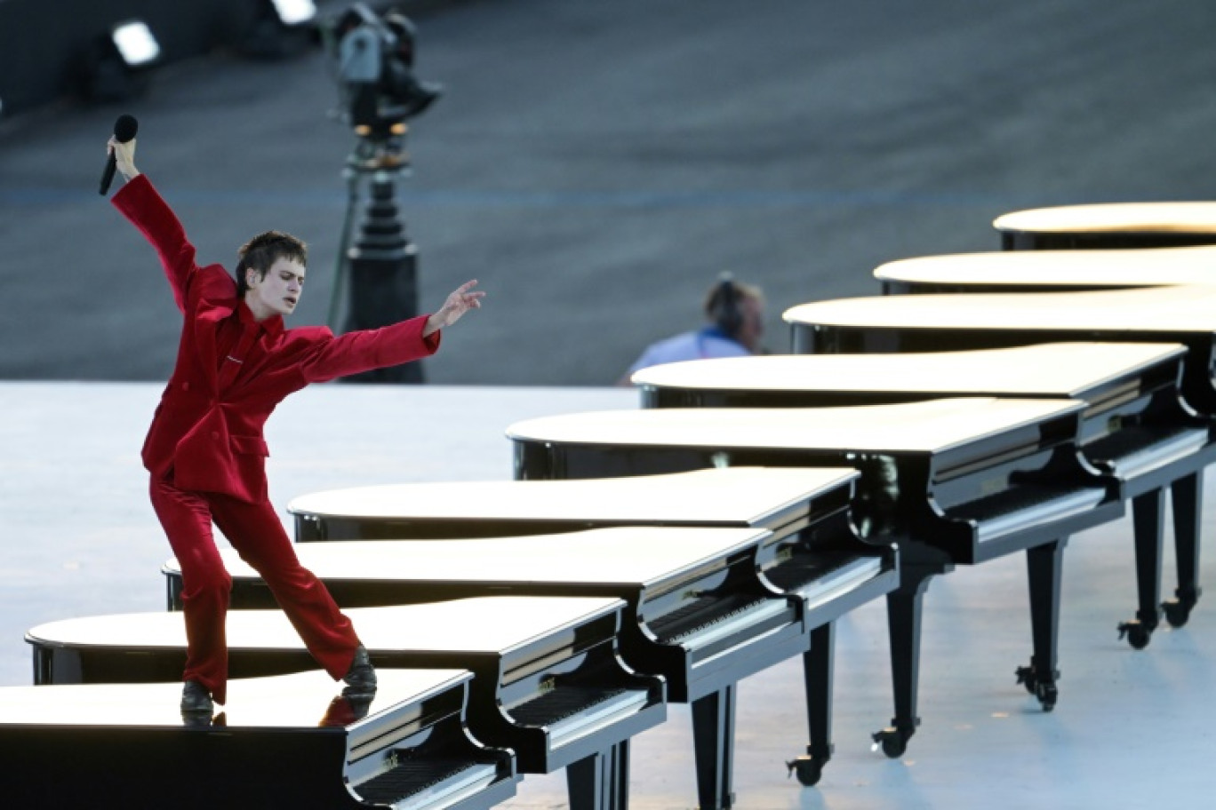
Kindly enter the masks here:
<path id="1" fill-rule="evenodd" d="M 178 361 L 142 452 L 150 472 L 171 470 L 181 489 L 265 500 L 270 453 L 263 426 L 288 393 L 439 349 L 438 332 L 422 336 L 428 316 L 337 338 L 326 327 L 283 329 L 280 316 L 259 323 L 237 300 L 236 282 L 224 267 L 195 264 L 195 247 L 146 175 L 112 202 L 156 248 L 185 316 Z M 224 357 L 216 341 L 221 330 L 230 344 Z"/>

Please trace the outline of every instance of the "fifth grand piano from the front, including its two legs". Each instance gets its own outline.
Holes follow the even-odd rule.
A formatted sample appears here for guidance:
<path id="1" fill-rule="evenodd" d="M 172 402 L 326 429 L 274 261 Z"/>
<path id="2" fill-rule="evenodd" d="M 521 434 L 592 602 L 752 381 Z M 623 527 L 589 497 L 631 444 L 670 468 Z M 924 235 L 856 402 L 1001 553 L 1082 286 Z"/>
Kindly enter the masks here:
<path id="1" fill-rule="evenodd" d="M 593 478 L 713 466 L 849 466 L 854 520 L 897 543 L 888 594 L 895 718 L 874 735 L 899 757 L 914 733 L 922 596 L 933 576 L 1026 551 L 1034 655 L 1018 676 L 1057 701 L 1060 559 L 1068 536 L 1122 515 L 1118 485 L 1077 449 L 1079 402 L 959 398 L 855 408 L 567 414 L 508 427 L 516 476 Z"/>

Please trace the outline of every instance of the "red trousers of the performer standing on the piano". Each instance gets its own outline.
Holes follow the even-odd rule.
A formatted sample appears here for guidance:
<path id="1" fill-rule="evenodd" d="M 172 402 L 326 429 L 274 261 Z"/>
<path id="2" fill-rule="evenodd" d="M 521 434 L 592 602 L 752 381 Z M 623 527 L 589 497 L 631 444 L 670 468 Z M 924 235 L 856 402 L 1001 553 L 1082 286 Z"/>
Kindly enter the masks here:
<path id="1" fill-rule="evenodd" d="M 232 578 L 212 536 L 219 527 L 241 559 L 270 587 L 317 663 L 338 680 L 350 669 L 359 636 L 330 596 L 325 583 L 299 563 L 269 500 L 247 503 L 210 492 L 178 489 L 153 476 L 152 508 L 181 565 L 186 619 L 186 672 L 216 703 L 227 696 L 227 614 Z"/>

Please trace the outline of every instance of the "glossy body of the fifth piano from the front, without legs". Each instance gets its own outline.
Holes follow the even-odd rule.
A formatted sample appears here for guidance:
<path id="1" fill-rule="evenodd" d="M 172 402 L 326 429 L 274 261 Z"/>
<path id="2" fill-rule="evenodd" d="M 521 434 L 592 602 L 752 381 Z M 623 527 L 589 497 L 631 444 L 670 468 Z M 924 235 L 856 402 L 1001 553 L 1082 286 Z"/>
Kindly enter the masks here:
<path id="1" fill-rule="evenodd" d="M 1083 410 L 1080 402 L 992 397 L 857 408 L 606 410 L 516 423 L 507 436 L 524 480 L 734 464 L 855 468 L 861 478 L 852 511 L 863 537 L 912 531 L 956 562 L 972 563 L 1020 544 L 1015 527 L 993 532 L 951 516 L 973 498 L 968 478 L 975 472 L 985 493 L 1041 495 L 1054 504 L 1047 510 L 1053 520 L 1069 525 L 1096 526 L 1121 514 L 1111 503 L 1119 500 L 1118 483 L 1080 457 Z M 1096 508 L 1105 511 L 1096 516 Z"/>

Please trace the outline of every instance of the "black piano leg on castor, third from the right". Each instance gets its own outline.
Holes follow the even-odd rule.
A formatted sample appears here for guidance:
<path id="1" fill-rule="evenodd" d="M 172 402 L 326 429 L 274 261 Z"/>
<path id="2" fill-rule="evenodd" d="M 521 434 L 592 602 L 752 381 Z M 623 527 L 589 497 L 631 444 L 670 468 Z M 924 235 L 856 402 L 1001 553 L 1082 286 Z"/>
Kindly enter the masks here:
<path id="1" fill-rule="evenodd" d="M 1038 698 L 1045 712 L 1055 708 L 1060 674 L 1055 669 L 1059 638 L 1060 573 L 1066 538 L 1026 550 L 1030 574 L 1030 631 L 1034 651 L 1029 667 L 1018 667 L 1018 682 Z"/>

